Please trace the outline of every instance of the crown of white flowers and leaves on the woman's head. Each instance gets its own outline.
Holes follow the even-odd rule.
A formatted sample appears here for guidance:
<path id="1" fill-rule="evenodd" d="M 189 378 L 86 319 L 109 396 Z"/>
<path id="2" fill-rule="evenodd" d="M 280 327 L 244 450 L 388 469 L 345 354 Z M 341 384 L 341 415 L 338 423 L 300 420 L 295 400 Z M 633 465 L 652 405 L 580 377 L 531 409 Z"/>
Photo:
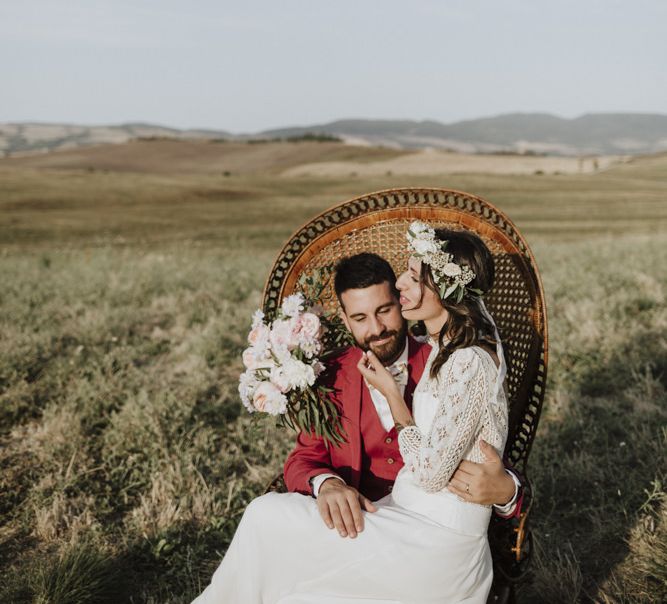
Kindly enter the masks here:
<path id="1" fill-rule="evenodd" d="M 439 240 L 433 227 L 415 220 L 408 227 L 406 237 L 413 255 L 431 267 L 433 280 L 443 300 L 455 296 L 456 302 L 460 302 L 466 291 L 482 295 L 480 290 L 466 287 L 475 278 L 475 273 L 469 266 L 453 261 L 454 256 L 445 251 L 448 242 Z"/>

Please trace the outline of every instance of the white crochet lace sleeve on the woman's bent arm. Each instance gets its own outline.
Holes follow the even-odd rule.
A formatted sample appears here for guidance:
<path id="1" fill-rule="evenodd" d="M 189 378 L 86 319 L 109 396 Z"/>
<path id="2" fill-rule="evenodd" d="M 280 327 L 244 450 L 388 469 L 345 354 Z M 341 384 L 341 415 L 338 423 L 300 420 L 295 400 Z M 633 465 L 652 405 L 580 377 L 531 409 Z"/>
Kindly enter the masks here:
<path id="1" fill-rule="evenodd" d="M 452 353 L 440 370 L 436 392 L 438 408 L 430 432 L 422 434 L 417 426 L 408 426 L 398 436 L 405 465 L 429 493 L 447 486 L 481 430 L 491 385 L 484 364 L 472 348 Z"/>

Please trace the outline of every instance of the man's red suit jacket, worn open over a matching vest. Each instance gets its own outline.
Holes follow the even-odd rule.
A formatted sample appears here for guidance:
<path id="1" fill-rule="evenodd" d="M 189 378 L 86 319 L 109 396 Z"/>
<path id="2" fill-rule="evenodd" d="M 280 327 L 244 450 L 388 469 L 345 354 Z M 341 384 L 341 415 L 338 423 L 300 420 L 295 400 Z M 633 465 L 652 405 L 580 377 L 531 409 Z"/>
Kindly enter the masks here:
<path id="1" fill-rule="evenodd" d="M 430 351 L 428 344 L 420 344 L 408 336 L 408 383 L 405 388 L 408 403 L 411 402 L 412 392 L 424 372 Z M 346 442 L 338 447 L 327 446 L 322 438 L 300 432 L 296 446 L 287 457 L 284 467 L 285 484 L 289 491 L 311 495 L 310 479 L 329 472 L 337 474 L 346 484 L 359 489 L 363 454 L 361 401 L 362 389 L 367 388 L 357 369 L 360 358 L 361 350 L 350 347 L 327 362 L 327 369 L 322 379 L 326 386 L 333 389 L 330 396 L 341 414 Z M 375 413 L 372 405 L 365 409 L 366 413 Z M 509 464 L 505 462 L 505 465 Z M 402 464 L 396 464 L 396 473 L 401 466 Z M 517 474 L 516 471 L 514 473 Z M 521 480 L 520 476 L 519 479 Z M 518 516 L 522 499 L 523 494 L 518 498 L 515 511 L 509 517 Z"/>

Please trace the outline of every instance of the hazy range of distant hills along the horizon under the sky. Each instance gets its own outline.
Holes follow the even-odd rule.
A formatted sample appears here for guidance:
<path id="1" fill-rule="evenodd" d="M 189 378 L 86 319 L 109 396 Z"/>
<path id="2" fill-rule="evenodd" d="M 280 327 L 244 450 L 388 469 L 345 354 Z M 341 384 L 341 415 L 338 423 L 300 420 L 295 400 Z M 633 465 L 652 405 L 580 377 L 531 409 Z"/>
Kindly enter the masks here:
<path id="1" fill-rule="evenodd" d="M 80 126 L 0 124 L 0 154 L 72 149 L 137 138 L 285 139 L 324 134 L 360 145 L 397 149 L 450 149 L 466 153 L 631 155 L 667 150 L 667 115 L 587 114 L 564 119 L 544 113 L 513 113 L 443 124 L 432 120 L 338 120 L 254 134 L 221 130 L 178 130 L 152 124 Z"/>

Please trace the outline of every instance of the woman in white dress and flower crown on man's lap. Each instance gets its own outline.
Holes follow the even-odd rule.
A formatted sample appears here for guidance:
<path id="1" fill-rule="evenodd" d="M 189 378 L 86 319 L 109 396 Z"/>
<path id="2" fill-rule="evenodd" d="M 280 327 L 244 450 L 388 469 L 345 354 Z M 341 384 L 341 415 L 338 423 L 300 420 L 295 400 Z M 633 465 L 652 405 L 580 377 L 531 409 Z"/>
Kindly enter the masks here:
<path id="1" fill-rule="evenodd" d="M 461 460 L 484 461 L 480 439 L 502 454 L 507 437 L 506 365 L 481 299 L 493 258 L 475 235 L 419 222 L 408 242 L 413 255 L 396 283 L 401 312 L 423 322 L 432 344 L 413 415 L 372 352 L 358 366 L 400 430 L 405 465 L 392 493 L 353 540 L 324 525 L 311 497 L 258 497 L 195 604 L 486 602 L 491 508 L 445 487 Z"/>

